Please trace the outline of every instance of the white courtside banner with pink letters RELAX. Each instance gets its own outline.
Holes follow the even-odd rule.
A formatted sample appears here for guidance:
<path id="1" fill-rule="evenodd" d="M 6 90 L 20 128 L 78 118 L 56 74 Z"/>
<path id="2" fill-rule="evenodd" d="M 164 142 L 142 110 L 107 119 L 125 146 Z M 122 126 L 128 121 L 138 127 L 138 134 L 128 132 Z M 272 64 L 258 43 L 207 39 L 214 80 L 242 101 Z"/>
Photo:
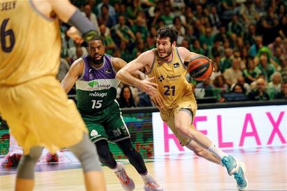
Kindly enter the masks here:
<path id="1" fill-rule="evenodd" d="M 221 149 L 285 145 L 287 105 L 200 109 L 193 124 Z M 153 113 L 155 156 L 187 152 L 160 118 Z"/>

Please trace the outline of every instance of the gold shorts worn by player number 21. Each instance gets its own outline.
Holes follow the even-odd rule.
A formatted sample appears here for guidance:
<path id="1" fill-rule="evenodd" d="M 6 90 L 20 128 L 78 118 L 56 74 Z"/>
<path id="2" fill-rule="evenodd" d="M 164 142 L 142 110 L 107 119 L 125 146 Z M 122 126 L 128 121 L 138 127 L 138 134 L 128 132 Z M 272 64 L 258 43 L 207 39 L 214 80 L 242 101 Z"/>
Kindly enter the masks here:
<path id="1" fill-rule="evenodd" d="M 171 129 L 171 131 L 173 131 L 173 134 L 175 134 L 177 139 L 180 140 L 180 145 L 185 146 L 191 141 L 190 138 L 185 138 L 183 136 L 180 136 L 180 134 L 178 134 L 177 130 L 175 129 L 175 115 L 180 111 L 180 109 L 191 110 L 192 117 L 194 118 L 196 110 L 198 109 L 198 106 L 196 104 L 196 101 L 191 100 L 191 98 L 185 97 L 185 98 L 182 98 L 180 102 L 177 102 L 177 104 L 175 104 L 175 107 L 173 107 L 173 109 L 170 109 L 167 111 L 161 111 L 160 116 L 162 117 L 162 120 L 166 122 L 166 124 Z M 195 128 L 195 127 L 191 124 L 191 128 Z"/>

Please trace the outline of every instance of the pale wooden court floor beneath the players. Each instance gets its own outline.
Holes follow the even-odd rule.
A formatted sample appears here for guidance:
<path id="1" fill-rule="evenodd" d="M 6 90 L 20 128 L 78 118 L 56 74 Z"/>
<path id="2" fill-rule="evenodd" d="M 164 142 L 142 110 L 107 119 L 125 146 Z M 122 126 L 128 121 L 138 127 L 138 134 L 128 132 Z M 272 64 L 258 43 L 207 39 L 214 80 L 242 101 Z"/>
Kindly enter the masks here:
<path id="1" fill-rule="evenodd" d="M 268 147 L 259 149 L 245 149 L 229 151 L 247 167 L 249 186 L 247 190 L 287 190 L 287 146 Z M 143 181 L 134 167 L 127 161 L 126 171 L 134 179 L 135 190 L 143 190 Z M 79 166 L 60 170 L 61 165 L 54 165 L 53 170 L 46 171 L 46 167 L 37 166 L 44 172 L 36 172 L 34 190 L 85 190 L 82 171 Z M 193 154 L 177 154 L 157 157 L 147 160 L 148 170 L 164 190 L 236 190 L 236 183 L 232 176 L 228 176 L 225 168 L 195 157 Z M 7 171 L 7 169 L 0 169 Z M 103 167 L 107 190 L 123 190 L 114 173 Z M 9 175 L 0 176 L 0 190 L 13 190 L 15 170 L 8 170 Z M 96 181 L 96 180 L 95 180 Z"/>

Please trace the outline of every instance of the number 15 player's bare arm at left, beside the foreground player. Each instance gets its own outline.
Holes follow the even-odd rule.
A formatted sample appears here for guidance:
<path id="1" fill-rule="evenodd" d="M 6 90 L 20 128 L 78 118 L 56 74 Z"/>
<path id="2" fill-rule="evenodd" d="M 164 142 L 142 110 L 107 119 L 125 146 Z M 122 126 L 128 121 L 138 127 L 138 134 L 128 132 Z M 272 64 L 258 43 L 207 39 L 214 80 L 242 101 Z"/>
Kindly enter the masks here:
<path id="1" fill-rule="evenodd" d="M 73 85 L 78 80 L 79 76 L 82 75 L 82 72 L 84 70 L 84 62 L 82 62 L 82 59 L 78 59 L 73 64 L 71 64 L 71 67 L 64 77 L 64 79 L 61 82 L 62 87 L 64 88 L 64 91 L 68 93 Z"/>

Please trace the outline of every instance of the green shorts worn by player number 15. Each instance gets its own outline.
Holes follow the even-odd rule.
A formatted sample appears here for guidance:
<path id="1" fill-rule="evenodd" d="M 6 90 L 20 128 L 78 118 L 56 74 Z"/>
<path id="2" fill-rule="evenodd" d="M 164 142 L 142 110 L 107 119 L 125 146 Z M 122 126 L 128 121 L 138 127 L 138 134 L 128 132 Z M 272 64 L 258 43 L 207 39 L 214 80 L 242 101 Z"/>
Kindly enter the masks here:
<path id="1" fill-rule="evenodd" d="M 123 121 L 119 104 L 116 101 L 93 115 L 82 114 L 82 119 L 89 129 L 89 139 L 92 143 L 102 139 L 115 143 L 130 138 L 130 132 Z"/>

